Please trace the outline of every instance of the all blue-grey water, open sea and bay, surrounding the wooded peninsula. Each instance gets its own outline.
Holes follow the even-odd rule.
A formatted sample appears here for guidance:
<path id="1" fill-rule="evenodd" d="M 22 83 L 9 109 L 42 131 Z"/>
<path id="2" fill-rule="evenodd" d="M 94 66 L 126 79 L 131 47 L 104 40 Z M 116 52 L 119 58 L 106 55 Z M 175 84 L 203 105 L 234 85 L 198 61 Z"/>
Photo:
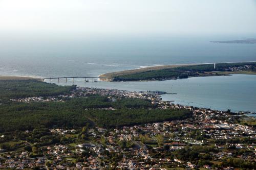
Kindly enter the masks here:
<path id="1" fill-rule="evenodd" d="M 98 76 L 159 64 L 256 61 L 256 44 L 223 44 L 256 35 L 54 37 L 0 35 L 0 75 Z M 189 78 L 160 82 L 75 82 L 79 86 L 160 90 L 164 100 L 219 110 L 256 111 L 256 76 Z M 59 83 L 65 85 L 65 82 Z M 72 84 L 69 82 L 67 84 Z"/>

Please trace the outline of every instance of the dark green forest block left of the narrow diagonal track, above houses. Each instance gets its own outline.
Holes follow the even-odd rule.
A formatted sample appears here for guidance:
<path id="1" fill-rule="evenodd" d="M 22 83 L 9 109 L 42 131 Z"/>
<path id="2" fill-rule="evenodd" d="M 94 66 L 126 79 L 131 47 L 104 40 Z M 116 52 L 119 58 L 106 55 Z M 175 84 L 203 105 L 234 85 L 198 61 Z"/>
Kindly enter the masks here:
<path id="1" fill-rule="evenodd" d="M 33 130 L 37 127 L 51 128 L 82 126 L 89 119 L 78 111 L 73 111 L 65 103 L 19 103 L 0 107 L 0 132 Z"/>

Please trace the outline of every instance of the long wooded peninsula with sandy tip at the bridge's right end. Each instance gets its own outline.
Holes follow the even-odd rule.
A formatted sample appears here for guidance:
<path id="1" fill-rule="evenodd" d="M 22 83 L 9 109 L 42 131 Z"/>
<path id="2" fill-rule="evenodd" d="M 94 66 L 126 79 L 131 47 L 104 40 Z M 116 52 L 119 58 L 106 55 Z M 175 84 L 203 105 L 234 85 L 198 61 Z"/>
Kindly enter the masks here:
<path id="1" fill-rule="evenodd" d="M 256 62 L 159 65 L 109 72 L 99 77 L 111 78 L 108 81 L 155 81 L 230 74 L 256 74 Z"/>

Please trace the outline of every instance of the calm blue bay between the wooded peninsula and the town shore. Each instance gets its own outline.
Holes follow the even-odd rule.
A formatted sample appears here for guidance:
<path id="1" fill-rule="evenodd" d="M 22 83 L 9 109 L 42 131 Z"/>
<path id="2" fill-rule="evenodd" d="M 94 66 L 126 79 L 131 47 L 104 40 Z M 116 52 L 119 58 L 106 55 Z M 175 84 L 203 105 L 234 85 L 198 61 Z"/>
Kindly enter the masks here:
<path id="1" fill-rule="evenodd" d="M 256 112 L 256 75 L 232 75 L 221 77 L 196 77 L 179 80 L 150 82 L 84 82 L 76 79 L 69 82 L 53 83 L 59 85 L 76 84 L 81 87 L 97 87 L 130 91 L 159 90 L 164 101 L 207 107 L 217 110 Z"/>

